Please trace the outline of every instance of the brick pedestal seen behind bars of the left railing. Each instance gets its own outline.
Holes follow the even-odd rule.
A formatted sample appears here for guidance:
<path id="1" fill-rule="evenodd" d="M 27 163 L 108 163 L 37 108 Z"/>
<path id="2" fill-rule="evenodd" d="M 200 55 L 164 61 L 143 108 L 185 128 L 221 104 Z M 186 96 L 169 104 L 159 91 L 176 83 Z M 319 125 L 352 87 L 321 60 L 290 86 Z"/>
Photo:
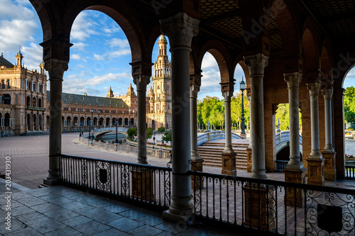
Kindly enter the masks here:
<path id="1" fill-rule="evenodd" d="M 154 172 L 150 169 L 134 169 L 132 174 L 133 198 L 154 201 Z"/>

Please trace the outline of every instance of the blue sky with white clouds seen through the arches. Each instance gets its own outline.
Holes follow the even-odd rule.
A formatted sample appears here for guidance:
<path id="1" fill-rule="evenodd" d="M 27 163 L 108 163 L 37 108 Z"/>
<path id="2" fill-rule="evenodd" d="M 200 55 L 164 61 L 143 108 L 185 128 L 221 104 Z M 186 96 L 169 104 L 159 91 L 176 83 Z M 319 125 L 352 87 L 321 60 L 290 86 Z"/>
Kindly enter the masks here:
<path id="1" fill-rule="evenodd" d="M 39 43 L 43 41 L 43 33 L 33 6 L 28 0 L 0 0 L 0 6 L 0 52 L 14 64 L 18 47 L 21 47 L 23 64 L 28 69 L 39 69 L 38 64 L 42 61 Z M 136 90 L 129 65 L 131 50 L 128 40 L 109 16 L 99 11 L 82 11 L 72 26 L 70 43 L 74 45 L 70 48 L 70 63 L 64 74 L 63 92 L 106 96 L 111 86 L 114 95 L 119 96 L 126 94 L 130 83 Z M 155 43 L 152 62 L 158 56 L 157 46 Z M 209 53 L 204 55 L 202 71 L 198 99 L 205 96 L 222 99 L 219 69 Z M 234 94 L 242 76 L 244 73 L 238 65 L 234 74 Z M 347 86 L 355 86 L 355 69 L 351 69 L 345 79 L 344 87 Z"/>

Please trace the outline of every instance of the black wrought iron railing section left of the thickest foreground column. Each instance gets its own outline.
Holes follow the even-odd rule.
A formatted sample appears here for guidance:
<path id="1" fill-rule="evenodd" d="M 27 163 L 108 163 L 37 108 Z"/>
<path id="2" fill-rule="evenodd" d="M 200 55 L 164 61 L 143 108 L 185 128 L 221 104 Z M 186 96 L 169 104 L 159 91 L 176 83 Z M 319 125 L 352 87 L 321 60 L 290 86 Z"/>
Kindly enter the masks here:
<path id="1" fill-rule="evenodd" d="M 126 201 L 170 206 L 171 169 L 60 154 L 60 182 Z"/>

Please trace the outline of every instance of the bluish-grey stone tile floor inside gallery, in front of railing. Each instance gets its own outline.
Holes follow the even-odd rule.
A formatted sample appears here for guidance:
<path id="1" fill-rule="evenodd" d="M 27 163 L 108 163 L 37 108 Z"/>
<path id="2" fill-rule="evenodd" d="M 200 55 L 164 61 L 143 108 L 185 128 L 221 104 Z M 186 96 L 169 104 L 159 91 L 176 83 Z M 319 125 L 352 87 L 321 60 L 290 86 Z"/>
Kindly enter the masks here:
<path id="1" fill-rule="evenodd" d="M 212 227 L 170 223 L 161 213 L 64 186 L 26 189 L 14 184 L 9 210 L 4 179 L 0 184 L 1 235 L 236 235 Z M 11 230 L 5 224 L 8 212 Z"/>

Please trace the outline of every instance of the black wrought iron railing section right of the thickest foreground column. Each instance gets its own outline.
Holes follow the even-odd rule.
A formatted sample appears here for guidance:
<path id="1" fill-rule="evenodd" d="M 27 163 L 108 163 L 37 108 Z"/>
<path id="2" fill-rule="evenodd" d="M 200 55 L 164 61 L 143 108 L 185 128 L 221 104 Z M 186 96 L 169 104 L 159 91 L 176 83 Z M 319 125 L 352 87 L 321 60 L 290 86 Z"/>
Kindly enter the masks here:
<path id="1" fill-rule="evenodd" d="M 257 235 L 355 234 L 355 190 L 189 174 L 197 221 L 248 228 Z"/>

